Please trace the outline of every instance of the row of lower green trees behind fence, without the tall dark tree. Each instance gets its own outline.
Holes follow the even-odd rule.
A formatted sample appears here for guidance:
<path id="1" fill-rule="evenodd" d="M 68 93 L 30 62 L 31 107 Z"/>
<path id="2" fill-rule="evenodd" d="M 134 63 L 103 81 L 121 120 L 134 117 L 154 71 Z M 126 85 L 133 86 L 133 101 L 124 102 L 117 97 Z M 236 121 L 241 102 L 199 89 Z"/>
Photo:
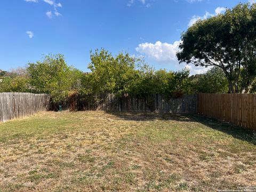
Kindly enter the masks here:
<path id="1" fill-rule="evenodd" d="M 225 75 L 212 68 L 201 75 L 181 71 L 155 70 L 141 58 L 128 53 L 113 56 L 101 49 L 91 52 L 90 73 L 68 66 L 61 54 L 45 55 L 42 61 L 28 63 L 26 68 L 1 72 L 0 92 L 48 93 L 56 103 L 66 101 L 69 94 L 97 97 L 113 93 L 117 96 L 165 94 L 180 97 L 194 93 L 225 93 Z"/>

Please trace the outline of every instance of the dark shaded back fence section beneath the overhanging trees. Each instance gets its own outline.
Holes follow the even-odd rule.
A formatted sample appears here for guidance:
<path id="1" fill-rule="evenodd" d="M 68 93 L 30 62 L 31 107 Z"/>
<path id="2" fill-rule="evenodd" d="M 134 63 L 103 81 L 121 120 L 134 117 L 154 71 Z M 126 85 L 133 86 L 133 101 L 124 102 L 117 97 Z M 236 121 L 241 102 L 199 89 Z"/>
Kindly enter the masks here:
<path id="1" fill-rule="evenodd" d="M 109 111 L 156 111 L 160 113 L 197 113 L 197 95 L 185 95 L 181 98 L 168 98 L 154 94 L 145 98 L 114 97 L 107 95 L 99 101 L 74 96 L 70 98 L 70 111 L 109 110 Z"/>

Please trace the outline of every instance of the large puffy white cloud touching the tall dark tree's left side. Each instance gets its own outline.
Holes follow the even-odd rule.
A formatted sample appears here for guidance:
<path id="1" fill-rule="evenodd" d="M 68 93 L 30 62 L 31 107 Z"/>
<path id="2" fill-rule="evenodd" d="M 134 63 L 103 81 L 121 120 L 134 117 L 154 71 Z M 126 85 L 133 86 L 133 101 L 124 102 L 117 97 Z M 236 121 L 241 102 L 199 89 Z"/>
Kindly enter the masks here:
<path id="1" fill-rule="evenodd" d="M 181 41 L 176 41 L 173 44 L 162 43 L 157 41 L 153 43 L 141 43 L 136 47 L 136 51 L 147 57 L 149 60 L 156 61 L 161 65 L 172 65 L 175 69 L 181 70 L 188 68 L 190 74 L 202 74 L 207 70 L 205 67 L 195 67 L 192 64 L 186 63 L 179 64 L 176 53 L 179 51 L 179 44 Z"/>

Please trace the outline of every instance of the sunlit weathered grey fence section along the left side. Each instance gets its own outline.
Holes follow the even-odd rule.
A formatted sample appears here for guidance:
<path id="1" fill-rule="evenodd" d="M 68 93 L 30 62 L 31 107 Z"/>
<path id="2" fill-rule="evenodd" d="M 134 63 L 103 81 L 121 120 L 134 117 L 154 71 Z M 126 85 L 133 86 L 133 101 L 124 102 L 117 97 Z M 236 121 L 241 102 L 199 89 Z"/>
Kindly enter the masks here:
<path id="1" fill-rule="evenodd" d="M 0 93 L 0 122 L 45 111 L 49 100 L 47 94 Z"/>

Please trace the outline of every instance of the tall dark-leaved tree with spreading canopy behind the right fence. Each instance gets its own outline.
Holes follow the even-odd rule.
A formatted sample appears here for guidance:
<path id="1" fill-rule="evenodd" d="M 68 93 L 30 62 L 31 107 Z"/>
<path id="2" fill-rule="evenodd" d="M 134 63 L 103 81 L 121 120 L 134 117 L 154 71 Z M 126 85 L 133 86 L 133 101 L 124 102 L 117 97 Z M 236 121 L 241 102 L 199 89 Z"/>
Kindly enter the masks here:
<path id="1" fill-rule="evenodd" d="M 256 75 L 256 4 L 238 4 L 199 20 L 181 36 L 180 62 L 217 66 L 228 79 L 229 92 L 249 93 Z"/>

